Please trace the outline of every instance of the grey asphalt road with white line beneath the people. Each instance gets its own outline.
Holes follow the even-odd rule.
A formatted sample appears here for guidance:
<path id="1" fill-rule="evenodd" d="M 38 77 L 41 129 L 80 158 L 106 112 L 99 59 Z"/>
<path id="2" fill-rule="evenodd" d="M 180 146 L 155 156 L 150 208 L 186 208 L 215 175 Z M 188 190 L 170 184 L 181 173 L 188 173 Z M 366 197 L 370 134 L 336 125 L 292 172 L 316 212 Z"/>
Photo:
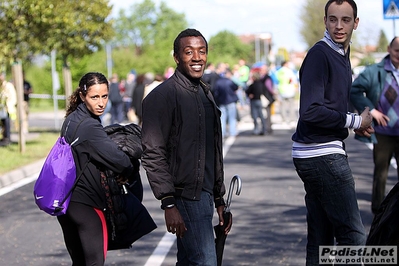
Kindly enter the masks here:
<path id="1" fill-rule="evenodd" d="M 234 195 L 231 204 L 234 225 L 227 238 L 223 265 L 302 266 L 305 264 L 306 209 L 303 186 L 291 159 L 293 129 L 276 123 L 273 135 L 253 136 L 251 127 L 251 121 L 243 119 L 240 135 L 226 142 L 231 144 L 226 146 L 229 148 L 225 156 L 226 185 L 228 187 L 235 174 L 241 176 L 243 184 L 241 194 Z M 348 138 L 347 147 L 361 215 L 368 231 L 372 221 L 372 153 L 355 141 L 353 135 Z M 34 176 L 31 178 L 34 180 Z M 132 249 L 110 251 L 106 265 L 171 266 L 175 263 L 176 243 L 173 237 L 165 235 L 163 212 L 143 172 L 142 179 L 143 202 L 158 228 L 134 243 Z M 396 182 L 394 169 L 390 169 L 388 179 L 389 189 Z M 0 189 L 0 195 L 4 189 Z M 57 221 L 37 209 L 32 190 L 33 181 L 1 196 L 0 265 L 70 265 Z M 167 241 L 161 242 L 165 236 L 171 241 L 170 250 Z M 165 257 L 161 253 L 153 254 L 159 243 L 165 245 Z"/>

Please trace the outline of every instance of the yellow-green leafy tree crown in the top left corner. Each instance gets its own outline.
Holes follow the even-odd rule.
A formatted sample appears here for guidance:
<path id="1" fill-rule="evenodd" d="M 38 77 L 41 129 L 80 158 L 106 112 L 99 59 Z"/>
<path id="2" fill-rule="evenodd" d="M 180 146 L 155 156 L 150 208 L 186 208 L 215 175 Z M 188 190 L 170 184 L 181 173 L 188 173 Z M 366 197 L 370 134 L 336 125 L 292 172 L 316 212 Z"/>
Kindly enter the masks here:
<path id="1" fill-rule="evenodd" d="M 69 56 L 91 53 L 113 36 L 111 9 L 107 0 L 2 0 L 0 60 L 10 64 L 56 49 L 66 65 Z"/>

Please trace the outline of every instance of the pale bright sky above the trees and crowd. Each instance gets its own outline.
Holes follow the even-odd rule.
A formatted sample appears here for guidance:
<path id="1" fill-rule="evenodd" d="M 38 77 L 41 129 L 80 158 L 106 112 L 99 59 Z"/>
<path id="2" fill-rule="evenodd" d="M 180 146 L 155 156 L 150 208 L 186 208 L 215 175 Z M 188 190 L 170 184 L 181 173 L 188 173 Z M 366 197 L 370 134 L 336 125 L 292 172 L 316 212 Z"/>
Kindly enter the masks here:
<path id="1" fill-rule="evenodd" d="M 162 0 L 152 0 L 157 7 Z M 395 0 L 399 2 L 399 0 Z M 113 14 L 128 9 L 143 0 L 110 0 Z M 300 36 L 300 14 L 306 0 L 163 0 L 168 7 L 184 13 L 189 26 L 199 30 L 209 40 L 223 30 L 237 35 L 269 33 L 272 51 L 304 51 L 306 44 Z M 355 31 L 362 45 L 376 45 L 380 30 L 388 41 L 399 28 L 399 21 L 384 19 L 383 0 L 357 0 L 359 27 Z M 324 10 L 320 12 L 324 13 Z M 323 21 L 315 23 L 323 23 Z M 176 35 L 178 32 L 176 32 Z M 320 36 L 321 38 L 322 36 Z"/>

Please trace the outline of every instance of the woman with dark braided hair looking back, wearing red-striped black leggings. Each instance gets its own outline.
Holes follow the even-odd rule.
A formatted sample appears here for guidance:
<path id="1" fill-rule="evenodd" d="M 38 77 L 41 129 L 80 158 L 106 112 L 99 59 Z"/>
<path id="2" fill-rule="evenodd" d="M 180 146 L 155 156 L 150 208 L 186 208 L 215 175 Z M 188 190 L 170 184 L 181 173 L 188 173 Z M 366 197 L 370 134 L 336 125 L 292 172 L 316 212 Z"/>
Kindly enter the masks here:
<path id="1" fill-rule="evenodd" d="M 108 92 L 109 82 L 103 74 L 85 74 L 69 98 L 62 125 L 61 135 L 73 143 L 76 175 L 80 176 L 66 214 L 57 216 L 73 265 L 105 262 L 108 232 L 101 171 L 112 170 L 122 177 L 133 173 L 130 158 L 108 137 L 101 124 Z"/>

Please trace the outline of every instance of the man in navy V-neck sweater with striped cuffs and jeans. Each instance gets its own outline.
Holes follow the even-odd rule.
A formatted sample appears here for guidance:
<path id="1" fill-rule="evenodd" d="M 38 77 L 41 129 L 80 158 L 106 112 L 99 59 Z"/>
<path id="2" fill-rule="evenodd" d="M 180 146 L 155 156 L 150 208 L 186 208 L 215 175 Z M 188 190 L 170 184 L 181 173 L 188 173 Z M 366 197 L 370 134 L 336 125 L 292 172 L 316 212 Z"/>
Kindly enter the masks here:
<path id="1" fill-rule="evenodd" d="M 326 31 L 301 66 L 300 118 L 292 136 L 292 157 L 306 191 L 306 265 L 319 265 L 319 247 L 365 244 L 354 179 L 344 140 L 348 129 L 370 136 L 371 114 L 348 113 L 352 83 L 350 40 L 359 23 L 353 0 L 329 0 Z M 335 241 L 334 241 L 335 240 Z"/>

